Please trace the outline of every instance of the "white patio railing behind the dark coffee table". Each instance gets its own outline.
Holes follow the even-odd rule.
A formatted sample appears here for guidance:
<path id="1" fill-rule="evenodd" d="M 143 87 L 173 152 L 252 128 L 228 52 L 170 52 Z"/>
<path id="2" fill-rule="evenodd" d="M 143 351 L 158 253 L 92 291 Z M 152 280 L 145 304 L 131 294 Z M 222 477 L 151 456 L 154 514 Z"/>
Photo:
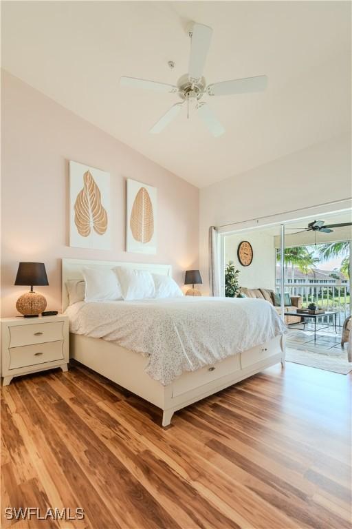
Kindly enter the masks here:
<path id="1" fill-rule="evenodd" d="M 276 292 L 280 292 L 280 285 L 278 284 L 276 284 Z M 351 313 L 348 284 L 287 283 L 285 284 L 285 292 L 290 295 L 301 295 L 304 307 L 314 302 L 319 309 L 338 311 L 338 325 L 343 325 L 344 320 Z M 329 320 L 332 322 L 332 318 Z"/>

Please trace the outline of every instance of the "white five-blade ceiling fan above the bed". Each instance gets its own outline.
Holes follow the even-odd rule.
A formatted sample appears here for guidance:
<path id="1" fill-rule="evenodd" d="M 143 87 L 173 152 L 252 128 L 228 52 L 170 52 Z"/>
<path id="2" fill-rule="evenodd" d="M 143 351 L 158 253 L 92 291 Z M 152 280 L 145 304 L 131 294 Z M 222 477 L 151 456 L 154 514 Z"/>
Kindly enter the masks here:
<path id="1" fill-rule="evenodd" d="M 122 76 L 120 85 L 124 87 L 142 88 L 154 90 L 155 92 L 170 92 L 178 94 L 181 102 L 175 103 L 162 118 L 151 127 L 151 134 L 159 134 L 179 114 L 185 103 L 187 106 L 187 117 L 189 117 L 189 102 L 195 101 L 197 114 L 203 120 L 212 136 L 221 136 L 225 132 L 223 125 L 218 121 L 210 107 L 201 98 L 208 96 L 228 96 L 231 94 L 243 94 L 245 92 L 261 92 L 267 87 L 267 76 L 245 77 L 245 79 L 234 79 L 232 81 L 221 81 L 208 85 L 203 77 L 203 69 L 206 64 L 206 56 L 212 38 L 212 28 L 208 25 L 194 23 L 188 32 L 191 39 L 190 59 L 188 63 L 188 74 L 181 76 L 177 85 L 157 83 L 146 79 Z M 172 61 L 169 63 L 173 65 Z M 173 66 L 171 66 L 173 67 Z"/>

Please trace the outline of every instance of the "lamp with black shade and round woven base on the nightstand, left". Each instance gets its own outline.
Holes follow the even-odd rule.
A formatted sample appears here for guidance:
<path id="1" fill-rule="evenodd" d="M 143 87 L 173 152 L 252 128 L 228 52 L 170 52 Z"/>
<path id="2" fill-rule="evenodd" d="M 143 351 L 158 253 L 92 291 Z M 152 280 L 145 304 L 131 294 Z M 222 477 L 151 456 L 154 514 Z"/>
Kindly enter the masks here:
<path id="1" fill-rule="evenodd" d="M 33 285 L 48 285 L 47 273 L 43 262 L 20 262 L 19 269 L 14 284 L 21 284 L 30 287 L 27 292 L 17 300 L 16 308 L 25 318 L 38 317 L 45 311 L 47 300 L 38 292 L 33 291 Z"/>

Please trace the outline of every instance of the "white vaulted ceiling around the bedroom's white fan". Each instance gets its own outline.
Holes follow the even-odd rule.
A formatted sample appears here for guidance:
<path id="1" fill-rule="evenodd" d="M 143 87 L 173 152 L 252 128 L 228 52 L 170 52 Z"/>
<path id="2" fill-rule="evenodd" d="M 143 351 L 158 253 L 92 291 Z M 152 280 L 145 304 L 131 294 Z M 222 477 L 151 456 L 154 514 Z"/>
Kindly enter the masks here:
<path id="1" fill-rule="evenodd" d="M 346 1 L 3 1 L 2 65 L 203 187 L 347 132 L 350 11 Z M 269 77 L 266 92 L 208 98 L 226 129 L 219 138 L 192 108 L 149 134 L 177 94 L 119 85 L 122 75 L 176 83 L 190 21 L 213 28 L 208 83 Z"/>

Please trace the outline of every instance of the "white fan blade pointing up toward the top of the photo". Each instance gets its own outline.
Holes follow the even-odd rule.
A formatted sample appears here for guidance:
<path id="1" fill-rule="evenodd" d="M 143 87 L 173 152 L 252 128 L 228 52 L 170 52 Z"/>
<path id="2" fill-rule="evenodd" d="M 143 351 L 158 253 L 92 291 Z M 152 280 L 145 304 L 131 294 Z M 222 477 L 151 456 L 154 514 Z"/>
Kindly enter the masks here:
<path id="1" fill-rule="evenodd" d="M 193 25 L 190 43 L 190 62 L 188 64 L 188 77 L 191 80 L 200 79 L 203 75 L 211 38 L 212 28 L 209 28 L 208 25 Z"/>

